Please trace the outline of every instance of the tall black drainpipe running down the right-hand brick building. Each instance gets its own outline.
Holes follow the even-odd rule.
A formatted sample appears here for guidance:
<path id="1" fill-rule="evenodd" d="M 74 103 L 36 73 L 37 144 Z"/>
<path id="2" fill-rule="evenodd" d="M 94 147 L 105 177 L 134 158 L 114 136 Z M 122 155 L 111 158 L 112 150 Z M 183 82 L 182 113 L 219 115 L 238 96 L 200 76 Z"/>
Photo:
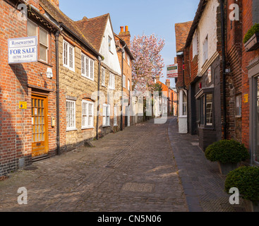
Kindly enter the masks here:
<path id="1" fill-rule="evenodd" d="M 222 73 L 223 73 L 223 131 L 224 139 L 227 139 L 227 100 L 226 100 L 226 52 L 225 52 L 225 24 L 224 24 L 224 0 L 220 1 L 221 33 L 222 33 Z"/>

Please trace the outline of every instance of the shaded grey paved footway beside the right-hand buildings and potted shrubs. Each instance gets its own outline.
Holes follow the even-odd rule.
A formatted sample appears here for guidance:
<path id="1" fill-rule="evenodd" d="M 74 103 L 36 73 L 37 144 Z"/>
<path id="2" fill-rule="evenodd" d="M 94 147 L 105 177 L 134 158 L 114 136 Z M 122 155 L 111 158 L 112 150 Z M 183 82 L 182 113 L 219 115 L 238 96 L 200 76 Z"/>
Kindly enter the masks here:
<path id="1" fill-rule="evenodd" d="M 176 118 L 170 120 L 169 139 L 190 212 L 243 212 L 240 205 L 230 205 L 224 192 L 225 176 L 217 163 L 205 158 L 198 147 L 198 136 L 178 133 Z M 180 142 L 181 141 L 181 145 Z"/>

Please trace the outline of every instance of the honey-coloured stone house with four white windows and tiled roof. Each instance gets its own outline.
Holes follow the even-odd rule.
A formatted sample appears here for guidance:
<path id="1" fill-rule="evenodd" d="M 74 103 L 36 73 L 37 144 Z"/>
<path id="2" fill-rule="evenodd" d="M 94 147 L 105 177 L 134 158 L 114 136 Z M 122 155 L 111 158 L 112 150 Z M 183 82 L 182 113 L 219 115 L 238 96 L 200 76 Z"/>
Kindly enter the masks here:
<path id="1" fill-rule="evenodd" d="M 102 55 L 95 50 L 73 20 L 53 4 L 40 0 L 42 14 L 62 28 L 59 35 L 59 113 L 61 151 L 75 149 L 97 134 L 96 100 L 98 67 Z"/>

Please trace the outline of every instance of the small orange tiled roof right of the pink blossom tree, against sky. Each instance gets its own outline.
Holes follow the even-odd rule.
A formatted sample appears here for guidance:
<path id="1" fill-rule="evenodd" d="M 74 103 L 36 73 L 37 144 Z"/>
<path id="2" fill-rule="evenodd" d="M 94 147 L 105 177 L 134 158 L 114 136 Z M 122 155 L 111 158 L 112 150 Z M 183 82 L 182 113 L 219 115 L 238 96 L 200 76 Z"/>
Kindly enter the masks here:
<path id="1" fill-rule="evenodd" d="M 186 39 L 188 37 L 188 33 L 191 29 L 192 24 L 193 21 L 175 24 L 176 52 L 181 52 L 183 50 L 183 47 L 185 47 Z"/>

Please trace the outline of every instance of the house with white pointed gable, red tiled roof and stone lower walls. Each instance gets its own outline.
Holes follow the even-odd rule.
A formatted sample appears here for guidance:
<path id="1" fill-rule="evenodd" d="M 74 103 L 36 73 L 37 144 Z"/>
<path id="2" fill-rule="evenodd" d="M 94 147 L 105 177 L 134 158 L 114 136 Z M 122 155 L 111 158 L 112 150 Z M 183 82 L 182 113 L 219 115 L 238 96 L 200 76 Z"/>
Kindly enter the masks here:
<path id="1" fill-rule="evenodd" d="M 74 23 L 103 58 L 100 62 L 100 114 L 98 134 L 120 130 L 121 66 L 109 13 Z"/>

